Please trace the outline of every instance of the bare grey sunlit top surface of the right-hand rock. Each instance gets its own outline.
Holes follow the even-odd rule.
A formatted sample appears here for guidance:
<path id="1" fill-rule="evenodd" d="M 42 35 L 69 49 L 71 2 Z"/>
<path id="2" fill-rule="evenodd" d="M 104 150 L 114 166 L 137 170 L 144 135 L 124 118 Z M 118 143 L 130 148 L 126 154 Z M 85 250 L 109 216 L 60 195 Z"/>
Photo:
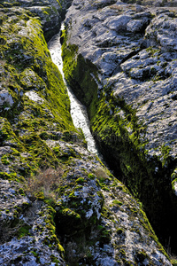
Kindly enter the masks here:
<path id="1" fill-rule="evenodd" d="M 135 108 L 150 156 L 163 157 L 160 147 L 169 145 L 176 160 L 176 13 L 157 10 L 153 18 L 136 4 L 99 4 L 73 1 L 65 20 L 68 43 L 97 66 L 103 86 L 110 84 L 114 95 Z"/>

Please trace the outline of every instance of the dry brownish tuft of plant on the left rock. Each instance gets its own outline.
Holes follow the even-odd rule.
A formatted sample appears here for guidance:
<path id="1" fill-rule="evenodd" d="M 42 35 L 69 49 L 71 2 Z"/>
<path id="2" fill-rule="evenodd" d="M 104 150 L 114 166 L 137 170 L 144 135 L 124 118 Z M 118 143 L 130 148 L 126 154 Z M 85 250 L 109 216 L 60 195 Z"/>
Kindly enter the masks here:
<path id="1" fill-rule="evenodd" d="M 47 168 L 27 180 L 27 196 L 31 200 L 56 200 L 56 190 L 62 184 L 62 168 Z"/>

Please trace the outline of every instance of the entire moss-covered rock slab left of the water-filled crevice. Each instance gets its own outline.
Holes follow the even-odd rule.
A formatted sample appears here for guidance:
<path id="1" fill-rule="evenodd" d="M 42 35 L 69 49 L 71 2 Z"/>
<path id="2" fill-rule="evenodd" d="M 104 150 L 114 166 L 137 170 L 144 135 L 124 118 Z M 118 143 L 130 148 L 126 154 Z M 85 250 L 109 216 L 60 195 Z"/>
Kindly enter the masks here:
<path id="1" fill-rule="evenodd" d="M 142 204 L 73 127 L 38 12 L 56 4 L 1 1 L 0 264 L 172 265 Z"/>

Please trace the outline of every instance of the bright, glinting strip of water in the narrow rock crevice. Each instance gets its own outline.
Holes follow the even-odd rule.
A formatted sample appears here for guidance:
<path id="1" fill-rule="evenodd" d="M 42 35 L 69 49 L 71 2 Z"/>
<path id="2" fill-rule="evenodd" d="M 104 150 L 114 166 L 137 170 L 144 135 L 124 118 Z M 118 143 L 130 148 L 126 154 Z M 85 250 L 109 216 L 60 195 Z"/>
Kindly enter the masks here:
<path id="1" fill-rule="evenodd" d="M 62 74 L 65 82 L 65 76 L 63 73 L 63 61 L 61 57 L 60 32 L 51 38 L 50 42 L 48 43 L 48 48 L 50 50 L 51 59 L 53 63 L 58 66 L 58 69 Z M 67 84 L 66 88 L 70 98 L 70 113 L 73 119 L 73 124 L 75 128 L 82 129 L 84 137 L 88 143 L 89 152 L 98 154 L 95 139 L 94 137 L 92 137 L 89 129 L 89 118 L 86 107 L 81 105 L 81 102 L 75 97 L 73 91 Z"/>

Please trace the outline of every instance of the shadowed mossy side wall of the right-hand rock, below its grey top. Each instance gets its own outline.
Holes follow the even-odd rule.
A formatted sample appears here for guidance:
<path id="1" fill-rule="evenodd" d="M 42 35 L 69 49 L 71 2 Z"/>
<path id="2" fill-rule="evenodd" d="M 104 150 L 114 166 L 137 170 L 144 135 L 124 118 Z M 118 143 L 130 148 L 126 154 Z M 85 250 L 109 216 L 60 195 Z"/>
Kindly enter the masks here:
<path id="1" fill-rule="evenodd" d="M 136 111 L 123 98 L 115 96 L 111 87 L 105 86 L 101 92 L 98 91 L 93 79 L 93 76 L 96 79 L 98 73 L 96 66 L 78 54 L 77 46 L 69 43 L 67 29 L 64 37 L 65 78 L 88 108 L 90 126 L 104 154 L 104 160 L 114 169 L 115 174 L 123 176 L 122 181 L 135 198 L 142 201 L 158 235 L 164 235 L 165 238 L 164 228 L 171 227 L 171 221 L 168 224 L 166 215 L 176 212 L 176 199 L 172 196 L 169 180 L 176 162 L 169 156 L 169 147 L 159 147 L 163 158 L 149 158 L 146 151 L 146 127 L 138 121 Z M 98 176 L 99 185 L 107 191 L 104 176 Z"/>

